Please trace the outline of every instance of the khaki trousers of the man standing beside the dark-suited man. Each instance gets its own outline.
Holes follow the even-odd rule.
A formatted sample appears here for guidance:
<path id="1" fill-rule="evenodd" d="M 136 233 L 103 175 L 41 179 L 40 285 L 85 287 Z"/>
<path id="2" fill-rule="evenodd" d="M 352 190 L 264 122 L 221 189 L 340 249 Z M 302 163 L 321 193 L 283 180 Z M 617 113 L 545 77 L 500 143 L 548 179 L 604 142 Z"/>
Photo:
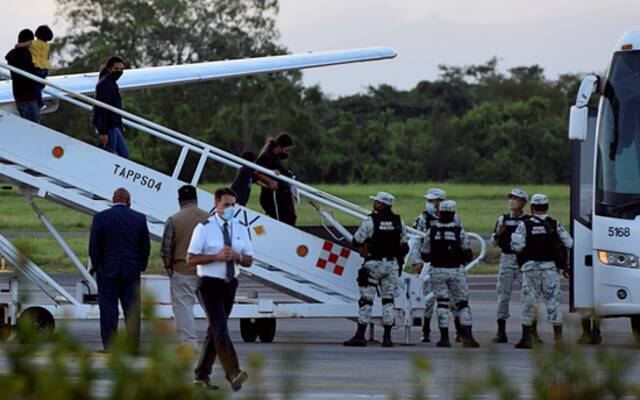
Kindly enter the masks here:
<path id="1" fill-rule="evenodd" d="M 196 303 L 198 277 L 174 272 L 171 276 L 171 306 L 176 319 L 176 333 L 183 345 L 198 347 L 193 306 Z"/>

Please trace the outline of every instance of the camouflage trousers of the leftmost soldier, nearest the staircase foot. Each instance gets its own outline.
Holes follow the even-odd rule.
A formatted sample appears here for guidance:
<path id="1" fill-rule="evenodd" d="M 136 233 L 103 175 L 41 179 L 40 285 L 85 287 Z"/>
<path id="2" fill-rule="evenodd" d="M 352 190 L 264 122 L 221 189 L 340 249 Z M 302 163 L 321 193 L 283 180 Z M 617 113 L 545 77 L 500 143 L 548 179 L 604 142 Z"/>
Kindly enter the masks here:
<path id="1" fill-rule="evenodd" d="M 398 263 L 396 261 L 371 260 L 362 267 L 369 273 L 369 284 L 360 286 L 358 322 L 368 324 L 371 321 L 371 308 L 378 291 L 382 301 L 382 324 L 392 326 L 395 321 L 393 299 L 398 286 Z"/>

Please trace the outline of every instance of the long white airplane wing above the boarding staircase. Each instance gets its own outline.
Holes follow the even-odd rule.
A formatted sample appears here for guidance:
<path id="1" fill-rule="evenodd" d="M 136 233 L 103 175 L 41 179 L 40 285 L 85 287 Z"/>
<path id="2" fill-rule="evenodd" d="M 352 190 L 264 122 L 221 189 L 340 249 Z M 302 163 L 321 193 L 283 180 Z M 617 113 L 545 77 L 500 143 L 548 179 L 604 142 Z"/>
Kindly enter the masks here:
<path id="1" fill-rule="evenodd" d="M 171 65 L 128 69 L 118 81 L 121 91 L 178 85 L 185 83 L 266 74 L 288 70 L 317 68 L 329 65 L 378 61 L 394 58 L 397 53 L 390 48 L 371 47 L 352 50 L 336 50 L 317 53 L 300 53 L 283 56 L 225 60 L 197 64 Z M 8 78 L 9 71 L 0 68 L 0 77 Z M 48 78 L 52 83 L 83 94 L 92 94 L 98 81 L 98 73 L 58 75 Z M 45 98 L 50 97 L 44 94 Z M 11 81 L 0 82 L 0 105 L 12 103 Z"/>

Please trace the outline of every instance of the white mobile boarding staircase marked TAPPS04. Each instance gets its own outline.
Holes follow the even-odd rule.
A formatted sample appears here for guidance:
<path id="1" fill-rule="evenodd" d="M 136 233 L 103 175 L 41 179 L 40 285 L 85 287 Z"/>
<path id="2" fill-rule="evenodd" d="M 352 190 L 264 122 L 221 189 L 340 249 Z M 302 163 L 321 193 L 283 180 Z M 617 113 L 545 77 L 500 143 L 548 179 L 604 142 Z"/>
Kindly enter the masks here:
<path id="1" fill-rule="evenodd" d="M 146 215 L 152 238 L 159 240 L 165 221 L 179 210 L 176 195 L 178 188 L 186 183 L 197 186 L 206 162 L 213 160 L 234 168 L 249 165 L 273 179 L 295 185 L 303 197 L 313 202 L 312 205 L 320 212 L 324 221 L 333 225 L 344 236 L 349 237 L 349 233 L 323 206 L 359 219 L 364 219 L 369 212 L 312 186 L 277 176 L 271 170 L 210 144 L 114 109 L 91 97 L 52 85 L 5 64 L 0 64 L 0 67 L 48 84 L 45 89 L 47 93 L 77 107 L 91 110 L 93 105 L 98 105 L 116 112 L 122 115 L 127 126 L 181 148 L 172 174 L 167 175 L 0 109 L 0 181 L 19 188 L 82 277 L 76 285 L 75 293 L 69 293 L 21 254 L 6 237 L 0 235 L 0 256 L 51 300 L 48 303 L 22 301 L 18 279 L 14 276 L 9 288 L 3 291 L 8 300 L 0 298 L 0 326 L 4 327 L 1 330 L 4 334 L 0 336 L 5 338 L 7 331 L 16 325 L 22 315 L 30 315 L 43 329 L 51 329 L 56 319 L 99 317 L 97 285 L 89 273 L 89 266 L 82 264 L 34 199 L 46 199 L 76 211 L 94 214 L 110 207 L 113 191 L 124 187 L 131 193 L 131 207 Z M 179 177 L 189 153 L 198 154 L 199 161 L 190 181 L 183 181 Z M 213 204 L 213 195 L 198 189 L 198 205 L 209 210 Z M 2 210 L 0 215 L 1 213 Z M 259 336 L 262 341 L 273 340 L 276 318 L 357 318 L 359 293 L 356 277 L 363 263 L 358 253 L 248 208 L 238 207 L 236 218 L 248 230 L 255 253 L 253 266 L 241 268 L 241 272 L 299 299 L 298 302 L 275 302 L 269 298 L 239 299 L 231 317 L 241 319 L 243 339 L 254 341 Z M 414 238 L 421 235 L 416 230 L 410 231 Z M 467 269 L 477 264 L 485 254 L 482 238 L 471 235 L 479 240 L 481 251 Z M 395 299 L 396 326 L 405 328 L 407 341 L 414 317 L 422 316 L 426 296 L 431 295 L 423 290 L 424 279 L 424 276 L 421 278 L 403 273 L 398 285 Z M 172 317 L 168 287 L 166 277 L 143 276 L 143 298 L 154 299 L 154 315 L 158 318 Z M 195 306 L 194 313 L 196 317 L 204 317 L 199 305 Z M 380 304 L 374 307 L 373 316 L 376 320 L 381 317 Z"/>

